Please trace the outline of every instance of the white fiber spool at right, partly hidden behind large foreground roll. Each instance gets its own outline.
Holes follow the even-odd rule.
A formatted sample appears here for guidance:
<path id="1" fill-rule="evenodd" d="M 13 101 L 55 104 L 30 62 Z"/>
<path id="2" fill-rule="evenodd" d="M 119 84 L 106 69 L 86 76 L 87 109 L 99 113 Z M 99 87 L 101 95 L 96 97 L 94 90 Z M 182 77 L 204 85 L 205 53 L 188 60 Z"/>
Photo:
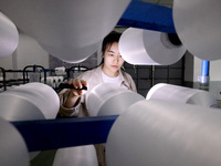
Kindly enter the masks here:
<path id="1" fill-rule="evenodd" d="M 166 83 L 156 84 L 149 90 L 146 100 L 151 98 L 194 104 L 206 107 L 218 105 L 214 95 L 210 92 Z"/>

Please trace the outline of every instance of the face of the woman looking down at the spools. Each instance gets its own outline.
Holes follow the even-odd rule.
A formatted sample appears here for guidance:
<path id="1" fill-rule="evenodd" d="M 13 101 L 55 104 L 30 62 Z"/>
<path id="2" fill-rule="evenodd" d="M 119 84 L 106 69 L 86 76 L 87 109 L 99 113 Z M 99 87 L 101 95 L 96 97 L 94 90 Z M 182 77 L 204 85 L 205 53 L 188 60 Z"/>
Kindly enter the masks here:
<path id="1" fill-rule="evenodd" d="M 112 45 L 107 45 L 104 52 L 104 73 L 108 76 L 117 76 L 123 64 L 124 59 L 119 53 L 118 43 L 114 42 Z"/>

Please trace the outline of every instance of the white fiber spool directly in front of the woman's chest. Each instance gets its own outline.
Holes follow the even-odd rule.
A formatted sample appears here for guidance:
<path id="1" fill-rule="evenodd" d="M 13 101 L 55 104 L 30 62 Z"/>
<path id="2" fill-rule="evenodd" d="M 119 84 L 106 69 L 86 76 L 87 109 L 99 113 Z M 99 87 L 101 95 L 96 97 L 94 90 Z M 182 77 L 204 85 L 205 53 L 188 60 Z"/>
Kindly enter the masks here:
<path id="1" fill-rule="evenodd" d="M 95 86 L 88 95 L 90 116 L 119 115 L 129 105 L 145 100 L 138 93 L 110 83 Z"/>

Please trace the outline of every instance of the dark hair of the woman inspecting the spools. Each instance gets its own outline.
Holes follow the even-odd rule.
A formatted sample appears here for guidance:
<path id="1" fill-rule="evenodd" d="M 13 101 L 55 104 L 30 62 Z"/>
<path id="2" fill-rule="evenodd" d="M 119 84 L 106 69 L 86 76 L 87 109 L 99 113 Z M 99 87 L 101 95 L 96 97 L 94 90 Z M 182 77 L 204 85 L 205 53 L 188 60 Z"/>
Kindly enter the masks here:
<path id="1" fill-rule="evenodd" d="M 118 33 L 116 31 L 112 31 L 109 34 L 107 34 L 102 43 L 102 53 L 105 52 L 105 50 L 107 49 L 107 45 L 112 45 L 114 42 L 119 42 L 119 38 L 120 38 L 122 33 Z"/>

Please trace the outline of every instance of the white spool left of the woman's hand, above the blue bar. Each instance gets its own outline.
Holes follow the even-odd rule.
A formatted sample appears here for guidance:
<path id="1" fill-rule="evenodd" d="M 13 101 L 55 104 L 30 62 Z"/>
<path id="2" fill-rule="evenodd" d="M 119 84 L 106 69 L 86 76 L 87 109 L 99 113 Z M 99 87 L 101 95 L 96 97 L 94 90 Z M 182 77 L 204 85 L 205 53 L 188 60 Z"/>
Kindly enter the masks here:
<path id="1" fill-rule="evenodd" d="M 35 82 L 1 93 L 0 102 L 0 114 L 4 113 L 10 121 L 55 118 L 60 107 L 55 91 L 49 85 Z"/>

